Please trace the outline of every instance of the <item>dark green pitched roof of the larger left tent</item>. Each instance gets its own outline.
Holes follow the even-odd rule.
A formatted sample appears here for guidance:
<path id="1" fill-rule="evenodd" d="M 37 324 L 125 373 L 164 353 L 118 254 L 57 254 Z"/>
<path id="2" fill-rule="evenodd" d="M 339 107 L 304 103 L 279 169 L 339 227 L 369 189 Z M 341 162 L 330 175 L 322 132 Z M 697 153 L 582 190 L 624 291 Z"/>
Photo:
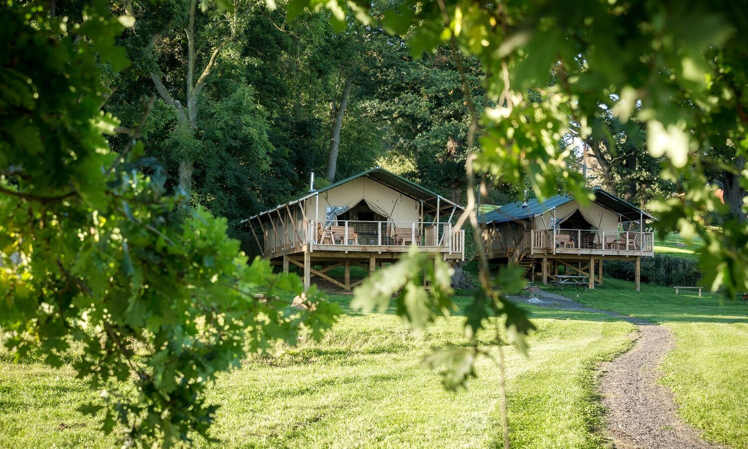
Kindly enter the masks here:
<path id="1" fill-rule="evenodd" d="M 454 204 L 452 201 L 447 200 L 447 198 L 444 198 L 443 196 L 438 195 L 429 189 L 426 189 L 426 187 L 419 186 L 417 183 L 414 183 L 411 180 L 406 180 L 404 177 L 394 174 L 391 171 L 385 170 L 384 168 L 375 167 L 370 170 L 364 171 L 363 173 L 359 173 L 352 177 L 347 177 L 344 180 L 337 181 L 337 183 L 332 183 L 329 186 L 322 187 L 319 190 L 309 192 L 306 195 L 303 195 L 293 201 L 289 201 L 286 204 L 279 204 L 278 206 L 270 210 L 266 210 L 263 213 L 258 213 L 256 216 L 251 216 L 249 219 L 254 219 L 258 216 L 266 215 L 267 213 L 271 213 L 272 211 L 281 207 L 285 207 L 286 205 L 290 206 L 291 204 L 296 204 L 299 201 L 304 201 L 308 198 L 312 198 L 314 195 L 319 195 L 320 193 L 327 192 L 328 190 L 334 189 L 337 186 L 342 186 L 345 183 L 349 183 L 352 180 L 356 180 L 364 176 L 369 177 L 370 179 L 375 180 L 376 182 L 383 184 L 390 189 L 396 190 L 403 195 L 423 201 L 423 209 L 426 213 L 435 212 L 437 204 L 440 210 L 451 209 L 452 207 L 457 207 L 459 210 L 465 210 L 465 208 L 460 206 L 459 204 Z M 242 221 L 242 223 L 246 221 L 247 220 L 244 220 Z"/>

